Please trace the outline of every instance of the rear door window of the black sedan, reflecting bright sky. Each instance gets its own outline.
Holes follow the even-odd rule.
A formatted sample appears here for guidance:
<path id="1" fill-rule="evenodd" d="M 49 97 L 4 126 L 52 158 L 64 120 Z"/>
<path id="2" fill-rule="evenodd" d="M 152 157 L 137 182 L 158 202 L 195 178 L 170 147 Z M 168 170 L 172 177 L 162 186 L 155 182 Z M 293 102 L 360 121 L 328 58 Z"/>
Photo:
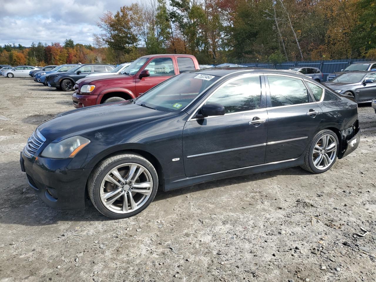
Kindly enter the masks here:
<path id="1" fill-rule="evenodd" d="M 268 76 L 272 107 L 308 103 L 308 91 L 301 79 Z"/>

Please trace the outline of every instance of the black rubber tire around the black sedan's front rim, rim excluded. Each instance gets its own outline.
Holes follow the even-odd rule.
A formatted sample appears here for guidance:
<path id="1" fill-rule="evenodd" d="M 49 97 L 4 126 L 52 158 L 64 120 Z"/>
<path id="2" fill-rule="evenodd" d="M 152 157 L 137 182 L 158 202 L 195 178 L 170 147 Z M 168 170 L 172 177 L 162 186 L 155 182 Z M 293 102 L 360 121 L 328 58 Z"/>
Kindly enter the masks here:
<path id="1" fill-rule="evenodd" d="M 104 180 L 106 175 L 110 173 L 111 170 L 113 170 L 117 166 L 127 164 L 127 163 L 138 164 L 138 165 L 141 165 L 143 168 L 147 169 L 152 179 L 152 191 L 149 196 L 149 199 L 147 199 L 143 203 L 142 206 L 137 208 L 135 211 L 130 211 L 128 213 L 122 214 L 122 213 L 111 211 L 109 208 L 107 208 L 101 200 L 100 193 L 101 193 L 102 181 Z M 123 175 L 123 177 L 126 178 L 125 175 Z M 114 187 L 118 188 L 117 186 L 114 186 Z M 157 193 L 157 190 L 158 190 L 158 174 L 155 168 L 146 158 L 138 154 L 132 153 L 132 152 L 125 152 L 120 155 L 114 155 L 100 162 L 94 168 L 88 180 L 88 192 L 89 192 L 89 197 L 90 197 L 92 204 L 103 215 L 106 215 L 107 217 L 115 218 L 115 219 L 132 217 L 133 215 L 136 215 L 139 212 L 143 211 L 153 201 Z"/>

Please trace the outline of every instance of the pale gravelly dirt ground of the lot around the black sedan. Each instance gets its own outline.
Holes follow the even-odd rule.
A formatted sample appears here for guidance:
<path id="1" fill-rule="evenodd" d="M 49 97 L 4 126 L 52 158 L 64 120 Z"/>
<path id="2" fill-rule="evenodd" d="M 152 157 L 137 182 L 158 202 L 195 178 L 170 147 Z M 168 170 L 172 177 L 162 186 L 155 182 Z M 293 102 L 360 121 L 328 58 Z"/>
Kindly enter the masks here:
<path id="1" fill-rule="evenodd" d="M 375 281 L 376 114 L 324 174 L 299 167 L 159 192 L 136 217 L 47 207 L 19 152 L 71 93 L 0 77 L 0 282 Z M 74 121 L 79 122 L 79 121 Z M 354 235 L 369 230 L 365 237 Z"/>

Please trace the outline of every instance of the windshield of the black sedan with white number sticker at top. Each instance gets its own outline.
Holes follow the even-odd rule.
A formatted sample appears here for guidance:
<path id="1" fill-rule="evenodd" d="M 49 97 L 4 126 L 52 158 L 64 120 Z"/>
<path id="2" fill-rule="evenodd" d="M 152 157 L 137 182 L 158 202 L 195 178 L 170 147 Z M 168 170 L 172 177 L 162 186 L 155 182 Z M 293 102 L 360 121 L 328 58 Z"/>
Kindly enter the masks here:
<path id="1" fill-rule="evenodd" d="M 135 104 L 164 112 L 181 111 L 219 78 L 208 74 L 182 73 L 139 96 Z"/>

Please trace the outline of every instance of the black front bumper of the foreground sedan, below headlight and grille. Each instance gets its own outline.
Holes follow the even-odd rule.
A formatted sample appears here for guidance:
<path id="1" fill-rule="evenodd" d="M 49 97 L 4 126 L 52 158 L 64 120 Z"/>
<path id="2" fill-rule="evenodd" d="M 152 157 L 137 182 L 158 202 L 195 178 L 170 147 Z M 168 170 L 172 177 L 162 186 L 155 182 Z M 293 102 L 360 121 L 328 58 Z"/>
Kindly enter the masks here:
<path id="1" fill-rule="evenodd" d="M 20 154 L 27 182 L 47 205 L 55 209 L 84 209 L 86 181 L 92 169 L 67 170 L 70 161 Z"/>

